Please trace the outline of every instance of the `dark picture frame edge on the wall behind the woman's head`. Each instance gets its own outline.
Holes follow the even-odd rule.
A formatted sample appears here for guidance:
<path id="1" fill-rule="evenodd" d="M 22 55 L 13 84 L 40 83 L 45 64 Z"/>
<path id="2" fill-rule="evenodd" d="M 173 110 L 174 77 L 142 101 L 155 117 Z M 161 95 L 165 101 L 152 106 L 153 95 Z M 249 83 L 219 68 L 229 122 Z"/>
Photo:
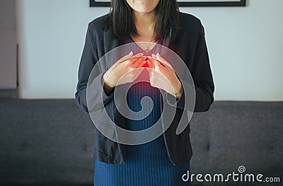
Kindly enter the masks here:
<path id="1" fill-rule="evenodd" d="M 179 0 L 179 6 L 246 6 L 246 0 Z M 90 0 L 90 6 L 110 6 L 110 0 Z"/>

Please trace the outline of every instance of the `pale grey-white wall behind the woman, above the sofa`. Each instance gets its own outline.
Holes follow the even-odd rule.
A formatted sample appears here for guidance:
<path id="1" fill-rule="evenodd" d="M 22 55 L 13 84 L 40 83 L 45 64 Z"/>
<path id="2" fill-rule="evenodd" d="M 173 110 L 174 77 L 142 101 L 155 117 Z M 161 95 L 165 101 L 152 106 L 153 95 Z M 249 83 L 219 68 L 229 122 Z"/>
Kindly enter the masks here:
<path id="1" fill-rule="evenodd" d="M 74 98 L 89 0 L 18 0 L 21 98 Z M 283 100 L 283 1 L 180 8 L 204 25 L 216 100 Z"/>

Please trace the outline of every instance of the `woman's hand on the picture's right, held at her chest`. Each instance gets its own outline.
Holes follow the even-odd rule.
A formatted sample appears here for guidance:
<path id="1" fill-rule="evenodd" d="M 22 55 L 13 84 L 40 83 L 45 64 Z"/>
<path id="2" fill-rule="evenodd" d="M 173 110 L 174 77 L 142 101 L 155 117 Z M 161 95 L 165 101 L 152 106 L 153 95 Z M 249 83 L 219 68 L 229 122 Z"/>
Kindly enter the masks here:
<path id="1" fill-rule="evenodd" d="M 149 57 L 147 59 L 147 64 L 150 69 L 154 69 L 148 69 L 151 86 L 161 88 L 175 96 L 175 98 L 180 98 L 182 83 L 175 74 L 171 64 L 163 59 L 158 53 L 152 54 L 152 58 Z"/>

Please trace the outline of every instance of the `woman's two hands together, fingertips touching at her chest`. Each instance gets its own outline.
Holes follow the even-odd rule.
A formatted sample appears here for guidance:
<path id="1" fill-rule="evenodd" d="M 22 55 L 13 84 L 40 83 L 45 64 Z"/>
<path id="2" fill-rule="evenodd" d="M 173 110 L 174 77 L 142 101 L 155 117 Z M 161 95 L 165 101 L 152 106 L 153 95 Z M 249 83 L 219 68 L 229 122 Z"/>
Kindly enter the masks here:
<path id="1" fill-rule="evenodd" d="M 176 98 L 180 98 L 182 84 L 170 63 L 160 54 L 146 57 L 142 53 L 133 56 L 133 52 L 115 62 L 103 75 L 106 93 L 110 93 L 117 85 L 136 80 L 142 72 L 139 69 L 144 66 L 148 66 L 146 70 L 149 73 L 151 86 L 161 88 Z"/>

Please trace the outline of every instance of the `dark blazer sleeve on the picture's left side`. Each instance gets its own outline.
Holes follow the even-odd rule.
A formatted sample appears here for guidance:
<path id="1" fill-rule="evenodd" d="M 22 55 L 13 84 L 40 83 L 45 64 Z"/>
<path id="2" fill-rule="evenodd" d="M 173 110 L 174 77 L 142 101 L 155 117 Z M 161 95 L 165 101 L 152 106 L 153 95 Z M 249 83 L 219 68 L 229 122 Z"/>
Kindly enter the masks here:
<path id="1" fill-rule="evenodd" d="M 81 110 L 84 112 L 90 112 L 88 108 L 91 110 L 98 110 L 103 105 L 107 104 L 112 98 L 113 93 L 107 95 L 103 89 L 103 82 L 101 81 L 104 73 L 98 74 L 91 83 L 88 83 L 88 78 L 91 75 L 91 71 L 93 67 L 98 62 L 98 55 L 96 54 L 96 48 L 93 45 L 95 40 L 92 37 L 92 29 L 90 23 L 88 23 L 88 29 L 86 31 L 86 40 L 83 47 L 83 52 L 81 54 L 81 61 L 79 64 L 79 73 L 78 73 L 78 83 L 76 86 L 76 103 L 79 105 Z M 94 32 L 93 32 L 94 33 Z M 89 88 L 88 103 L 86 100 L 86 88 Z"/>

